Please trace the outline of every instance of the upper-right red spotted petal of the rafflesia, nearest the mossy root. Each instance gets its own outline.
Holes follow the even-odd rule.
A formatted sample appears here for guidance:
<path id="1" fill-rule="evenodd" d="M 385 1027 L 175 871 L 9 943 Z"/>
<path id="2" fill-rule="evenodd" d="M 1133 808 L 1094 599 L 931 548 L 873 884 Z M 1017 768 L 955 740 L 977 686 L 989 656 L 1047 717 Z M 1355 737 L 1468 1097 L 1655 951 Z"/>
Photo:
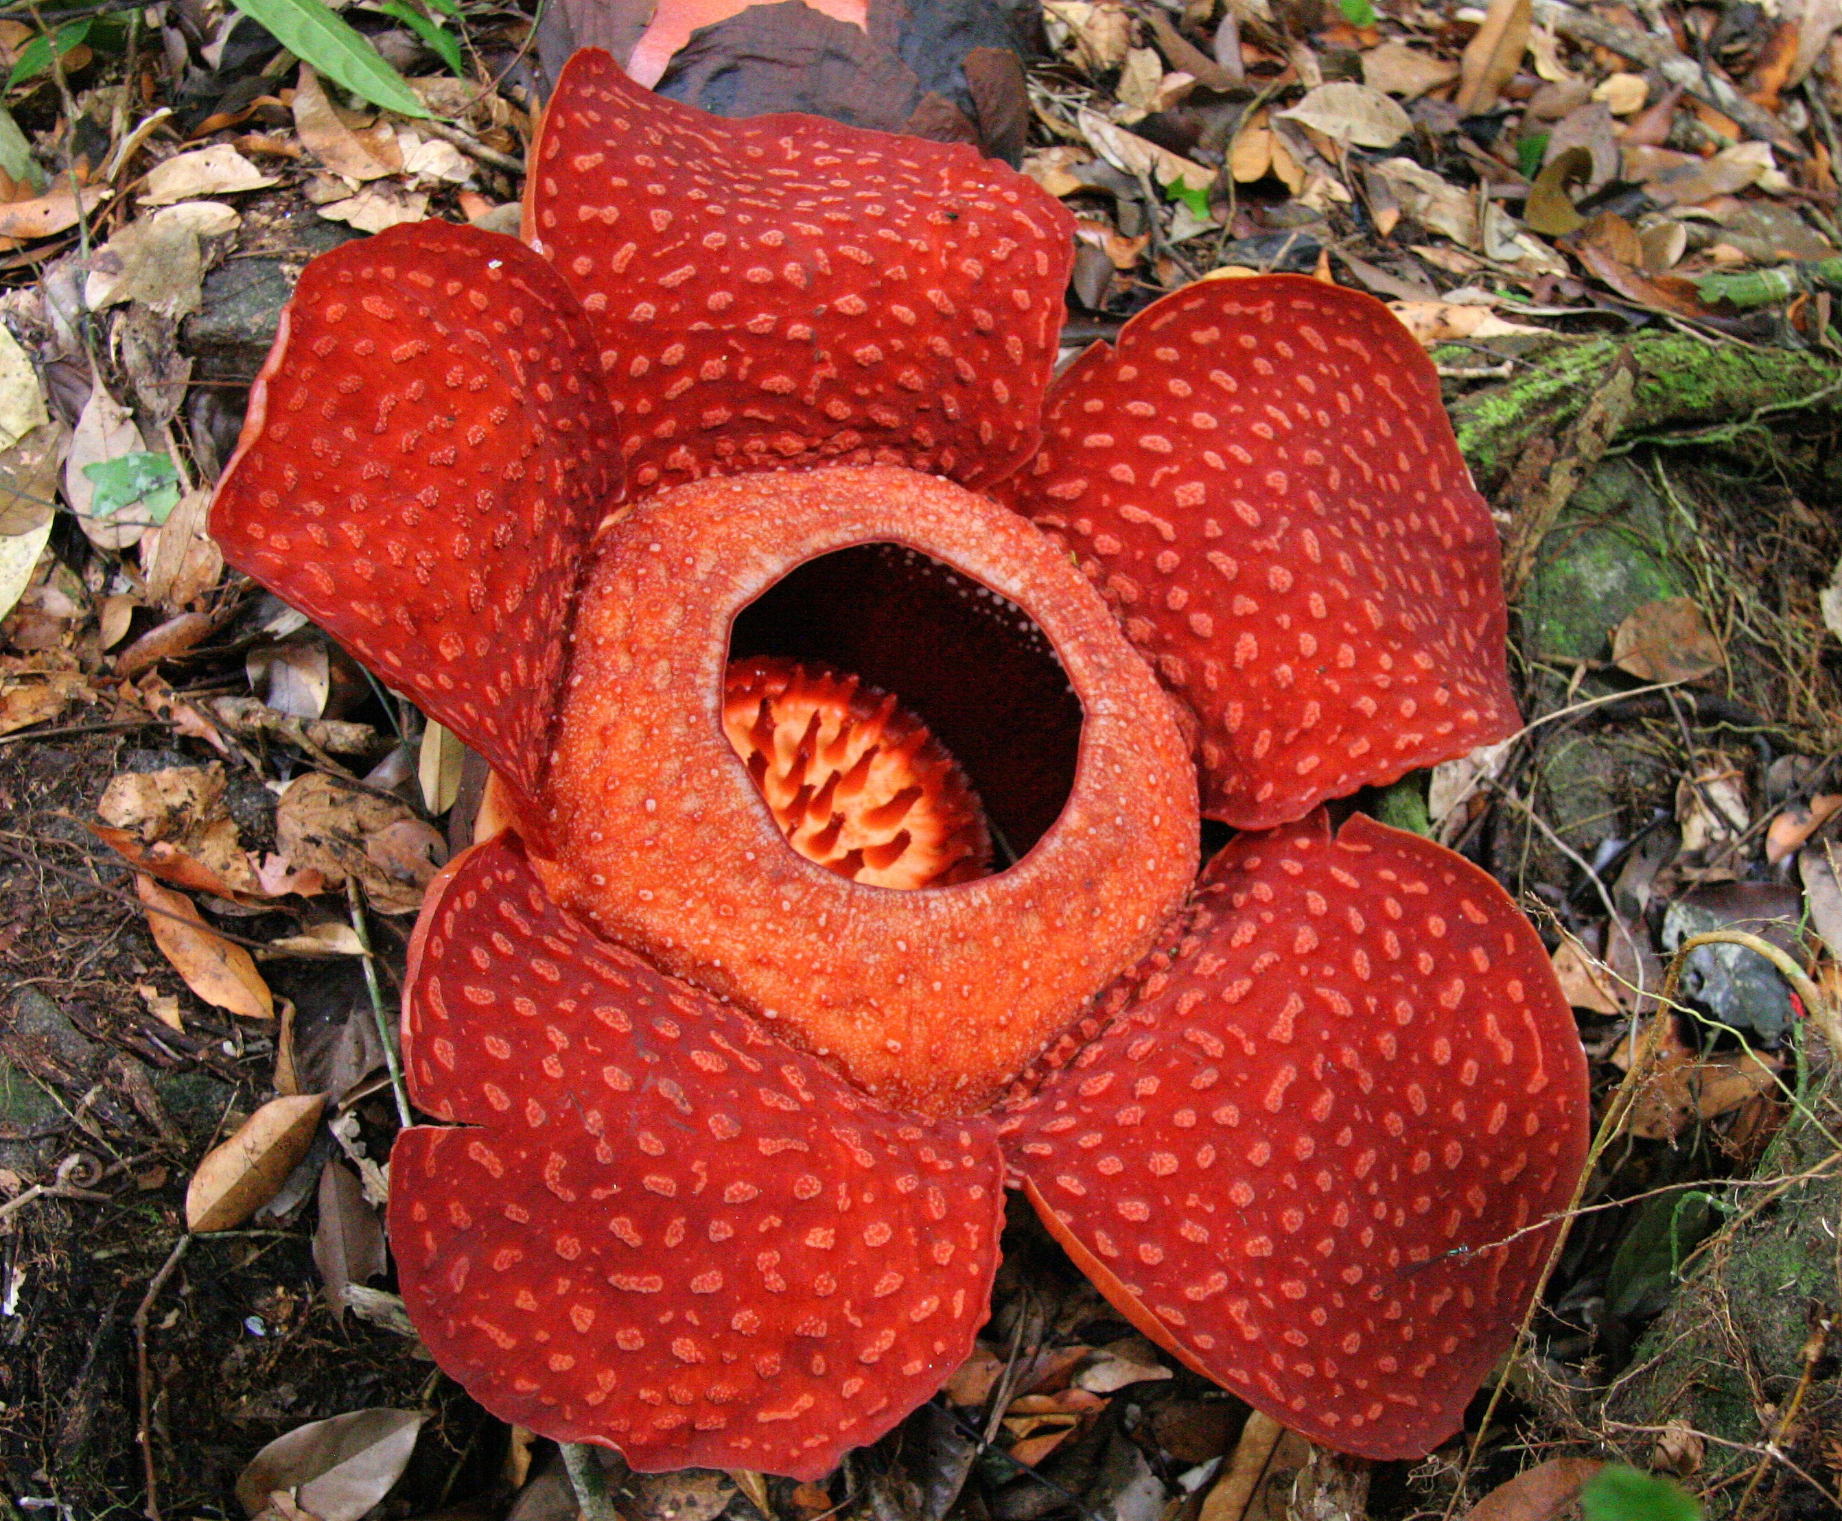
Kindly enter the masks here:
<path id="1" fill-rule="evenodd" d="M 1000 495 L 1197 718 L 1203 812 L 1269 829 L 1518 727 L 1496 525 L 1372 296 L 1205 280 L 1087 350 Z"/>

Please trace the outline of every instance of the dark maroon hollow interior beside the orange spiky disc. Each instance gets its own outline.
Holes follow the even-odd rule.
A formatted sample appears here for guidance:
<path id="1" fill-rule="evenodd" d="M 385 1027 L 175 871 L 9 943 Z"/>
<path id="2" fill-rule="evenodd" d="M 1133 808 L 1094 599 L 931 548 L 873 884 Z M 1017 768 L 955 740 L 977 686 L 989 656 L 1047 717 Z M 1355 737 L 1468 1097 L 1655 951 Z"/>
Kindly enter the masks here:
<path id="1" fill-rule="evenodd" d="M 917 549 L 864 543 L 809 560 L 746 606 L 729 659 L 820 661 L 893 692 L 978 792 L 1004 867 L 1068 801 L 1081 700 L 1035 621 Z"/>

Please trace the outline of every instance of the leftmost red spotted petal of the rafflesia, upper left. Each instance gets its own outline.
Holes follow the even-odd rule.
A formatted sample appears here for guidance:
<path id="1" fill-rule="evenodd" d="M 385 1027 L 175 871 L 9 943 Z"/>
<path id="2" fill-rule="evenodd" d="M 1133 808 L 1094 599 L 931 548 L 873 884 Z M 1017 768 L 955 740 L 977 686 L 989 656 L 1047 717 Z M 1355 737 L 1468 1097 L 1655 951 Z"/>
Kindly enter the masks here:
<path id="1" fill-rule="evenodd" d="M 619 484 L 562 280 L 512 238 L 424 221 L 308 265 L 212 534 L 529 795 Z"/>

